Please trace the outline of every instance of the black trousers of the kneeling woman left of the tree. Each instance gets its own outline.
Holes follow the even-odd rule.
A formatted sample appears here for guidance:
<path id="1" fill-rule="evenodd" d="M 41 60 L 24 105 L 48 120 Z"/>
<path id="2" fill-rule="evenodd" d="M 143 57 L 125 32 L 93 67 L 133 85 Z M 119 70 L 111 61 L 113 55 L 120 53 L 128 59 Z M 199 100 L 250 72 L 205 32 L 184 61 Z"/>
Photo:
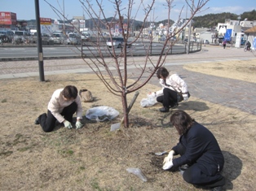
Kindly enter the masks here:
<path id="1" fill-rule="evenodd" d="M 77 103 L 73 102 L 69 106 L 64 107 L 64 110 L 60 113 L 60 115 L 64 116 L 64 119 L 68 120 L 70 123 L 73 121 L 73 114 L 77 111 Z M 56 118 L 51 114 L 51 111 L 47 111 L 46 113 L 40 115 L 38 117 L 39 124 L 42 127 L 44 132 L 51 132 L 55 128 Z"/>

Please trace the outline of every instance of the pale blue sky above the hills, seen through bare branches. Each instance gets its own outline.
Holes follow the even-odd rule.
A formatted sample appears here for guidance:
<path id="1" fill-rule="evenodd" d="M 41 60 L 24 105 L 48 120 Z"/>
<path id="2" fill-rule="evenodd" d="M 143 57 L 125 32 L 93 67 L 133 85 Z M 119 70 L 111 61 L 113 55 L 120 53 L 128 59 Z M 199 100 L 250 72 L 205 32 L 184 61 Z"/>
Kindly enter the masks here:
<path id="1" fill-rule="evenodd" d="M 141 0 L 135 0 L 135 7 L 139 6 L 139 2 Z M 188 0 L 189 1 L 189 0 Z M 73 16 L 82 16 L 83 9 L 82 4 L 79 0 L 47 0 L 47 2 L 51 3 L 55 8 L 59 11 L 63 10 L 64 4 L 64 15 L 69 19 L 72 19 Z M 82 1 L 83 2 L 83 1 Z M 113 16 L 113 5 L 108 0 L 103 0 L 104 2 L 104 13 L 108 17 Z M 122 0 L 124 3 L 124 7 L 127 6 L 128 0 Z M 145 4 L 149 4 L 152 0 L 144 0 Z M 155 2 L 154 11 L 149 15 L 148 20 L 153 20 L 155 18 L 156 21 L 166 20 L 167 13 L 166 8 L 163 4 L 166 0 L 157 0 Z M 195 0 L 195 2 L 198 2 Z M 94 0 L 91 0 L 93 6 L 96 5 Z M 185 5 L 184 0 L 174 0 L 174 7 L 171 11 L 170 19 L 177 20 L 179 16 L 179 12 L 181 11 L 181 7 Z M 55 11 L 51 9 L 51 7 L 45 2 L 45 0 L 39 0 L 40 6 L 40 17 L 43 18 L 51 18 L 60 20 L 60 16 L 56 15 Z M 208 8 L 209 7 L 209 8 Z M 206 9 L 208 8 L 208 9 Z M 253 11 L 256 10 L 256 2 L 255 0 L 210 0 L 207 2 L 201 13 L 198 15 L 206 15 L 209 13 L 222 13 L 222 12 L 231 12 L 236 15 L 240 15 L 245 11 Z M 134 9 L 135 10 L 135 9 Z M 34 0 L 0 0 L 0 11 L 11 11 L 15 12 L 17 15 L 17 20 L 33 20 L 35 19 L 35 6 Z M 95 8 L 95 11 L 99 13 L 99 8 Z M 123 13 L 125 13 L 123 11 Z M 186 6 L 183 9 L 182 17 L 186 17 L 187 8 Z M 132 13 L 134 14 L 135 11 Z M 189 15 L 189 13 L 188 13 Z M 85 13 L 86 19 L 88 16 Z M 126 16 L 124 16 L 126 17 Z M 61 17 L 62 18 L 62 17 Z M 136 20 L 143 20 L 143 11 L 139 11 Z M 228 18 L 226 18 L 228 19 Z"/>

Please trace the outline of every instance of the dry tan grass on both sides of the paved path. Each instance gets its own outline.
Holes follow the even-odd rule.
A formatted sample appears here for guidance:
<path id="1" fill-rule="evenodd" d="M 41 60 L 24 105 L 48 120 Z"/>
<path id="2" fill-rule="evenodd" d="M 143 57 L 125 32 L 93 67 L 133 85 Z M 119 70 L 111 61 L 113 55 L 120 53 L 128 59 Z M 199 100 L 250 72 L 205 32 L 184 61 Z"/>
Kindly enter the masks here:
<path id="1" fill-rule="evenodd" d="M 237 80 L 255 79 L 255 60 L 189 64 L 184 68 L 208 75 Z M 161 105 L 143 108 L 139 102 L 148 89 L 145 85 L 130 111 L 130 128 L 110 132 L 112 124 L 122 117 L 121 99 L 113 96 L 95 75 L 68 74 L 0 80 L 2 93 L 0 128 L 0 190 L 200 190 L 183 181 L 179 171 L 163 171 L 164 156 L 155 152 L 168 150 L 179 140 L 170 126 L 173 111 L 163 114 Z M 43 132 L 34 119 L 46 112 L 55 89 L 76 85 L 89 89 L 95 102 L 82 103 L 84 115 L 95 106 L 112 106 L 120 115 L 112 121 L 95 122 L 84 118 L 84 128 L 64 128 Z M 130 102 L 133 94 L 128 96 Z M 256 116 L 227 106 L 190 98 L 179 109 L 209 128 L 223 150 L 226 163 L 225 189 L 254 190 Z M 130 174 L 136 167 L 148 181 Z"/>

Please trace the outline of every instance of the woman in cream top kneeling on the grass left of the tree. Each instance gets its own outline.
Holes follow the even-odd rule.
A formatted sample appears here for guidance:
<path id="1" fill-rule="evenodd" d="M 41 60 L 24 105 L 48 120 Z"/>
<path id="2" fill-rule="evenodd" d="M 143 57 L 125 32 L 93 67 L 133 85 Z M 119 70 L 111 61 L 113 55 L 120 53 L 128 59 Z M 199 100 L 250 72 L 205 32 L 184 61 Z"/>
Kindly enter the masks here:
<path id="1" fill-rule="evenodd" d="M 44 132 L 51 132 L 55 128 L 55 122 L 58 120 L 64 123 L 66 128 L 73 128 L 73 114 L 77 113 L 76 128 L 82 128 L 82 103 L 77 96 L 77 88 L 73 85 L 67 85 L 64 89 L 57 89 L 51 96 L 48 103 L 48 111 L 39 115 L 35 124 L 40 124 Z"/>

